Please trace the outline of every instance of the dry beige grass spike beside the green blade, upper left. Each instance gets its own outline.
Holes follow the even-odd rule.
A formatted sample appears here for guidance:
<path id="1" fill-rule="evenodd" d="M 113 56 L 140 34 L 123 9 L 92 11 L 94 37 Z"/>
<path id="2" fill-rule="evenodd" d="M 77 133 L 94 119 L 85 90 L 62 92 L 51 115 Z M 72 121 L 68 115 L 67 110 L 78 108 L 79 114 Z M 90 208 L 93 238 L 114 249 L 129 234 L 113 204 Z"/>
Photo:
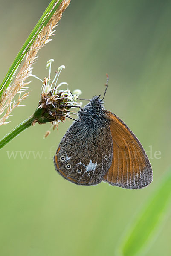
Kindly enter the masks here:
<path id="1" fill-rule="evenodd" d="M 55 5 L 58 3 L 58 1 L 55 3 Z M 52 39 L 49 39 L 52 35 L 54 35 L 54 28 L 58 25 L 58 21 L 62 17 L 62 13 L 67 8 L 67 6 L 70 4 L 70 0 L 63 0 L 57 9 L 57 11 L 52 15 L 51 19 L 47 23 L 45 27 L 42 28 L 40 34 L 30 47 L 29 51 L 26 54 L 26 60 L 23 64 L 23 67 L 21 67 L 19 73 L 17 74 L 14 82 L 12 85 L 10 85 L 4 92 L 1 97 L 0 101 L 0 115 L 2 115 L 6 110 L 6 113 L 3 117 L 0 118 L 0 125 L 3 125 L 4 123 L 7 123 L 6 120 L 9 118 L 10 113 L 14 108 L 20 105 L 20 102 L 23 99 L 26 99 L 29 92 L 24 94 L 23 96 L 21 93 L 24 93 L 28 88 L 26 88 L 26 85 L 29 84 L 25 83 L 26 79 L 31 76 L 32 74 L 32 65 L 34 64 L 36 58 L 38 58 L 37 53 L 38 51 L 49 41 Z M 54 5 L 54 7 L 55 7 Z M 24 89 L 24 90 L 23 90 Z M 15 103 L 12 103 L 14 96 L 19 93 L 19 98 Z M 21 105 L 20 105 L 21 106 Z"/>

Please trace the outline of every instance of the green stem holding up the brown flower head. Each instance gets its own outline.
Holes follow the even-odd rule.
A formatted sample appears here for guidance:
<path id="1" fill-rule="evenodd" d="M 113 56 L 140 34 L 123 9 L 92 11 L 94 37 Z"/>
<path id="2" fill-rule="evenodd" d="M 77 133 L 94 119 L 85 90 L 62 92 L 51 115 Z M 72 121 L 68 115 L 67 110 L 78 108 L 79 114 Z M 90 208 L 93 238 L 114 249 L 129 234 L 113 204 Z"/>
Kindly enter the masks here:
<path id="1" fill-rule="evenodd" d="M 20 134 L 22 131 L 26 130 L 32 125 L 32 122 L 35 121 L 36 117 L 34 115 L 27 118 L 25 121 L 17 125 L 12 131 L 10 131 L 6 136 L 0 140 L 0 149 L 3 148 L 7 143 L 9 143 L 14 137 Z"/>

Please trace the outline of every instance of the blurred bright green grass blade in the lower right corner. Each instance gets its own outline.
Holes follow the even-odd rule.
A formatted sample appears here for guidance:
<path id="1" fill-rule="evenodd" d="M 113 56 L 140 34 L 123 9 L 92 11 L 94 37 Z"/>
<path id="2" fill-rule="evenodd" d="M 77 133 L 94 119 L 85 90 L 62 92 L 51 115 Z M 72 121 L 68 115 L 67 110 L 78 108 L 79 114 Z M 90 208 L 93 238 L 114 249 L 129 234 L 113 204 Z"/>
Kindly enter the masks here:
<path id="1" fill-rule="evenodd" d="M 122 256 L 136 256 L 145 249 L 146 244 L 154 235 L 167 212 L 171 199 L 171 171 L 168 172 L 162 184 L 151 196 L 147 205 L 137 216 L 120 247 Z"/>

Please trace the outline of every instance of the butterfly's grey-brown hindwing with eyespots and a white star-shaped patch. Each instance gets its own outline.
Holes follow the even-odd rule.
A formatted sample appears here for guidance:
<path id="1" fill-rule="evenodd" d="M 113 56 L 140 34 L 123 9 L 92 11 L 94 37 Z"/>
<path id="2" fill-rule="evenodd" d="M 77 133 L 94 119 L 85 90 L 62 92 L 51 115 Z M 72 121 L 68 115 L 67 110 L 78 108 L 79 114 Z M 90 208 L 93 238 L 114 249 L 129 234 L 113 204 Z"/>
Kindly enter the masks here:
<path id="1" fill-rule="evenodd" d="M 57 172 L 78 185 L 96 185 L 112 163 L 109 121 L 74 122 L 62 138 L 54 163 Z"/>

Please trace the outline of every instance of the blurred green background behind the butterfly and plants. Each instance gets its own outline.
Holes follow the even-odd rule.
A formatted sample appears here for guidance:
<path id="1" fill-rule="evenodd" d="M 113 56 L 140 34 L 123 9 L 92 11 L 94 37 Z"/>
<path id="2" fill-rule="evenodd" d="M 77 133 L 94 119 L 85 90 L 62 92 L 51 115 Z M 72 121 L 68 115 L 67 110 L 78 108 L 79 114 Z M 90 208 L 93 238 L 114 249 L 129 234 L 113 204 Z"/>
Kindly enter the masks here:
<path id="1" fill-rule="evenodd" d="M 1 1 L 1 81 L 48 4 Z M 53 41 L 39 52 L 33 73 L 48 76 L 46 61 L 54 58 L 52 72 L 66 66 L 59 82 L 67 81 L 71 91 L 80 88 L 85 98 L 104 92 L 108 73 L 105 107 L 126 122 L 146 151 L 151 148 L 154 181 L 137 191 L 107 183 L 76 186 L 57 174 L 52 161 L 72 121 L 46 139 L 50 125 L 37 124 L 0 152 L 0 255 L 114 255 L 130 221 L 171 164 L 170 25 L 169 0 L 71 1 Z M 41 82 L 33 78 L 26 107 L 13 111 L 12 122 L 0 127 L 0 137 L 33 113 L 40 93 Z M 21 159 L 18 153 L 9 159 L 7 151 L 43 155 Z M 155 157 L 156 151 L 161 155 Z M 143 255 L 169 256 L 170 230 L 168 216 Z"/>

